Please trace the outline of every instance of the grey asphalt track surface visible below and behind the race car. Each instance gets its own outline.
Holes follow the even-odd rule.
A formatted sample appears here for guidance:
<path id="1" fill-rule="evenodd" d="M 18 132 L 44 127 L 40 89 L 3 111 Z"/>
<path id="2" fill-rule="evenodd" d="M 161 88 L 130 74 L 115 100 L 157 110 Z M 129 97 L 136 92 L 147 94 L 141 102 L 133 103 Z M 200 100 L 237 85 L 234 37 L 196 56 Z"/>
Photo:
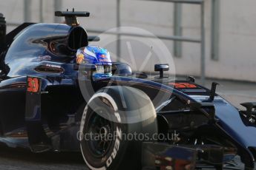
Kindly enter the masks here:
<path id="1" fill-rule="evenodd" d="M 245 101 L 256 101 L 256 84 L 219 81 L 217 93 L 229 99 L 235 106 Z M 206 81 L 211 86 L 211 81 Z M 33 154 L 24 149 L 0 146 L 0 170 L 88 170 L 79 153 Z"/>

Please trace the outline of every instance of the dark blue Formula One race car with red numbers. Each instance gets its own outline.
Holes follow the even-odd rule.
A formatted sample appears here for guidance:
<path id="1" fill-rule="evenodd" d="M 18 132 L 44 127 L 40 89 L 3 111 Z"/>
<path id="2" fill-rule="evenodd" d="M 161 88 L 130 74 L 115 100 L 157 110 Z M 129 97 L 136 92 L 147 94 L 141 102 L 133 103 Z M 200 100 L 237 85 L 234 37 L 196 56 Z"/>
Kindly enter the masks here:
<path id="1" fill-rule="evenodd" d="M 7 35 L 0 16 L 1 143 L 82 152 L 93 170 L 237 169 L 234 157 L 255 168 L 256 103 L 240 111 L 216 83 L 166 78 L 168 64 L 151 77 L 124 63 L 77 63 L 77 50 L 99 40 L 77 22 L 89 13 L 56 16 L 66 24 L 24 23 Z"/>

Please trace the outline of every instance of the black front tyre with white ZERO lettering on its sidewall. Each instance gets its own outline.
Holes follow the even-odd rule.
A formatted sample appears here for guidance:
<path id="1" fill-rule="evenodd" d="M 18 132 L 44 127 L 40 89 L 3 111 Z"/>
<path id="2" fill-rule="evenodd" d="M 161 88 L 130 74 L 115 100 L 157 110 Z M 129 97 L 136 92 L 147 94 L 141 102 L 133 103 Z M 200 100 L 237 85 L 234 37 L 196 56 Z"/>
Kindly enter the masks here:
<path id="1" fill-rule="evenodd" d="M 100 89 L 88 102 L 80 126 L 81 151 L 93 170 L 142 169 L 142 142 L 157 134 L 154 106 L 127 86 Z"/>

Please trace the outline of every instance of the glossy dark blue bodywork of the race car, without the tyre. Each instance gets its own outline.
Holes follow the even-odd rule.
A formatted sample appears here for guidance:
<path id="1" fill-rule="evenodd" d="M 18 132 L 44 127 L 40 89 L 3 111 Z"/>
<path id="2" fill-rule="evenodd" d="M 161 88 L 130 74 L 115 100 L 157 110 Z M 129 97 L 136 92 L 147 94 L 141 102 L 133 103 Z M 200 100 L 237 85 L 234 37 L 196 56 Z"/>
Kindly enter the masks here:
<path id="1" fill-rule="evenodd" d="M 86 101 L 79 88 L 75 52 L 87 46 L 87 40 L 82 27 L 67 24 L 23 24 L 7 35 L 7 47 L 1 50 L 1 142 L 33 152 L 79 151 L 76 134 Z M 114 67 L 130 69 L 119 63 Z M 214 95 L 212 105 L 203 106 L 211 91 L 194 82 L 136 78 L 116 70 L 111 78 L 95 81 L 85 76 L 83 81 L 93 84 L 93 92 L 109 85 L 141 89 L 157 109 L 160 132 L 177 131 L 189 139 L 223 137 L 223 146 L 231 143 L 227 146 L 237 149 L 246 167 L 254 168 L 255 124 L 228 101 Z M 39 90 L 27 90 L 28 78 L 39 80 Z M 166 101 L 170 102 L 164 105 Z M 194 106 L 197 103 L 200 106 Z"/>

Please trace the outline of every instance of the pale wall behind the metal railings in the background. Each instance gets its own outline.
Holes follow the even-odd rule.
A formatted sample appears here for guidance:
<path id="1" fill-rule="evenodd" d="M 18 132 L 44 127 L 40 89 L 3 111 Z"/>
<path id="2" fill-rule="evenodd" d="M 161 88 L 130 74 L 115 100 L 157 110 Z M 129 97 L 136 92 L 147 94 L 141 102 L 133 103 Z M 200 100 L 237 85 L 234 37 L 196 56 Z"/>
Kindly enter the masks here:
<path id="1" fill-rule="evenodd" d="M 0 12 L 7 21 L 22 22 L 23 1 L 0 0 Z M 39 21 L 39 1 L 32 1 L 32 21 Z M 80 23 L 89 29 L 108 30 L 116 27 L 116 0 L 63 0 L 62 9 L 75 7 L 88 10 L 90 18 Z M 140 27 L 157 35 L 172 35 L 173 4 L 157 1 L 121 1 L 123 26 Z M 218 61 L 210 56 L 211 0 L 206 0 L 206 76 L 256 82 L 256 1 L 220 0 L 220 55 Z M 44 20 L 53 21 L 53 1 L 44 1 Z M 200 38 L 200 7 L 183 4 L 183 35 Z M 11 28 L 9 28 L 10 30 Z M 91 33 L 93 34 L 93 33 Z M 95 33 L 93 34 L 95 35 Z M 170 52 L 172 41 L 164 41 Z M 115 52 L 115 45 L 110 50 Z M 122 57 L 127 56 L 125 45 Z M 148 49 L 142 49 L 148 50 Z M 140 55 L 140 49 L 136 50 Z M 140 60 L 143 60 L 143 55 Z M 174 58 L 178 75 L 200 75 L 200 44 L 183 43 L 183 57 Z M 151 69 L 151 64 L 148 65 Z"/>

